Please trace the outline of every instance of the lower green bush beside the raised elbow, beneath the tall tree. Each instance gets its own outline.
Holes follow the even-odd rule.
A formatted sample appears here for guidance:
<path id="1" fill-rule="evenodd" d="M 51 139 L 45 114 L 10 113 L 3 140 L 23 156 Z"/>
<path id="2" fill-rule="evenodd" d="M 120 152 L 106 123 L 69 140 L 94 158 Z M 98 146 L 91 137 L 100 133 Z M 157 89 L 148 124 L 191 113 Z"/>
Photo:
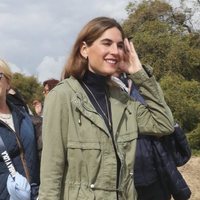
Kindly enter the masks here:
<path id="1" fill-rule="evenodd" d="M 200 83 L 169 73 L 160 84 L 175 120 L 186 132 L 195 129 L 200 122 Z"/>

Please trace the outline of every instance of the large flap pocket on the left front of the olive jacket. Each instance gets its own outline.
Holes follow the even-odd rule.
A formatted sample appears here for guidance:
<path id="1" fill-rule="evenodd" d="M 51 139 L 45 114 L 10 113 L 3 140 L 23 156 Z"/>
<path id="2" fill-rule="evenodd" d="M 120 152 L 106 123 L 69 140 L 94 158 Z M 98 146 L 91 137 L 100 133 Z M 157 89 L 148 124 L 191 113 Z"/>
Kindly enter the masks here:
<path id="1" fill-rule="evenodd" d="M 90 185 L 96 181 L 99 168 L 102 165 L 102 150 L 100 143 L 68 142 L 67 162 L 68 172 L 66 182 L 70 185 L 81 185 L 80 187 L 83 187 L 83 185 Z M 80 188 L 81 193 L 84 192 L 83 189 L 84 188 Z"/>

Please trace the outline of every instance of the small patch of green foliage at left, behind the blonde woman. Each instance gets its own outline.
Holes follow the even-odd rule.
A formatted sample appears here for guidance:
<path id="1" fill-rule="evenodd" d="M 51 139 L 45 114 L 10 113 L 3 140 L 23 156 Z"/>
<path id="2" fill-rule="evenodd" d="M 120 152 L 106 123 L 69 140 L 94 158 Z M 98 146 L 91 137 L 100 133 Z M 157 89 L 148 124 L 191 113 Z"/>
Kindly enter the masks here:
<path id="1" fill-rule="evenodd" d="M 34 99 L 43 100 L 42 85 L 34 76 L 25 76 L 20 73 L 14 73 L 12 87 L 19 90 L 25 102 L 32 108 Z"/>

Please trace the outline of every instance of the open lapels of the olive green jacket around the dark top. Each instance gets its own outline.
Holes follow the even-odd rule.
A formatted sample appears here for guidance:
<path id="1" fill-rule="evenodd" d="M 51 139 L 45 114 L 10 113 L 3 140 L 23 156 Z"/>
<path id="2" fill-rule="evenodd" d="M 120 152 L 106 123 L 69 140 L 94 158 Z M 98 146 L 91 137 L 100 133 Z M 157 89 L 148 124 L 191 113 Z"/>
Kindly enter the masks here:
<path id="1" fill-rule="evenodd" d="M 80 83 L 74 77 L 65 79 L 64 82 L 66 82 L 75 93 L 71 100 L 72 104 L 77 107 L 82 115 L 87 117 L 96 126 L 106 132 L 108 136 L 110 136 L 109 130 L 103 118 L 97 113 L 96 109 L 91 104 L 87 94 L 85 93 Z M 123 113 L 127 107 L 126 102 L 128 98 L 127 94 L 124 92 L 120 92 L 119 88 L 114 86 L 109 87 L 113 87 L 112 90 L 109 89 L 108 95 L 111 103 L 113 133 L 116 134 Z"/>

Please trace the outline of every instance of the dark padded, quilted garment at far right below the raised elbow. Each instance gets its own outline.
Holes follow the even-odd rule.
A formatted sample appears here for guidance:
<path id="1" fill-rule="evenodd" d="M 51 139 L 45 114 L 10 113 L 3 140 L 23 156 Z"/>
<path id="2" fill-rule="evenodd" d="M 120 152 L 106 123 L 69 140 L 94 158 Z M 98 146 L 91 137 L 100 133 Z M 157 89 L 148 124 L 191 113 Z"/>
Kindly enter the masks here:
<path id="1" fill-rule="evenodd" d="M 177 141 L 176 138 L 179 140 Z M 177 166 L 184 165 L 191 157 L 191 151 L 182 129 L 175 127 L 172 135 L 154 140 L 152 148 L 158 177 L 163 188 L 167 188 L 175 200 L 189 199 L 191 191 L 177 169 Z"/>

